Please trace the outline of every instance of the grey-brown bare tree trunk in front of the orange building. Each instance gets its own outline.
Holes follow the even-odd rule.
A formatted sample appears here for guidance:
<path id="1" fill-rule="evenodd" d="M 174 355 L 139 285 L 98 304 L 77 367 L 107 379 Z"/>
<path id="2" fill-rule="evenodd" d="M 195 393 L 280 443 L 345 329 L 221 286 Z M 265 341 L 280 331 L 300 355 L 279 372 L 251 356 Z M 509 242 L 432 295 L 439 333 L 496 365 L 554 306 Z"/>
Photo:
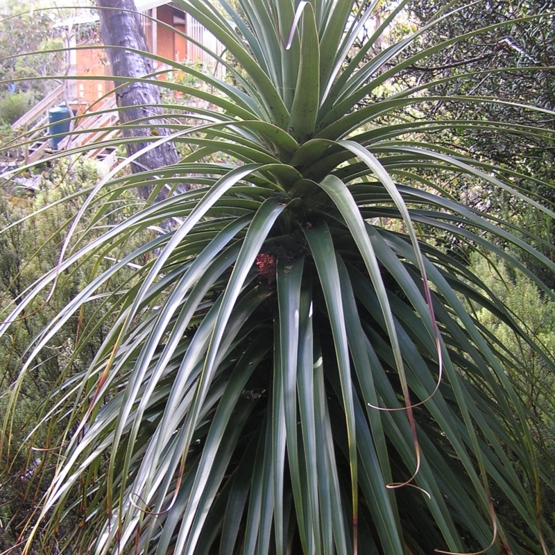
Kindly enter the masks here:
<path id="1" fill-rule="evenodd" d="M 101 35 L 104 45 L 107 47 L 108 59 L 112 67 L 112 74 L 122 77 L 122 80 L 114 80 L 117 89 L 117 105 L 123 110 L 119 111 L 119 120 L 123 125 L 124 137 L 150 137 L 151 135 L 167 136 L 169 131 L 164 127 L 162 108 L 160 105 L 160 87 L 150 83 L 130 82 L 127 78 L 140 78 L 152 74 L 153 64 L 150 58 L 141 56 L 139 53 L 128 49 L 148 51 L 144 30 L 136 13 L 134 0 L 96 0 L 99 8 L 119 8 L 116 10 L 99 10 Z M 132 11 L 124 11 L 132 10 Z M 113 49 L 110 46 L 123 46 L 123 49 Z M 125 49 L 125 50 L 124 50 Z M 135 107 L 135 108 L 133 108 Z M 150 118 L 145 121 L 148 127 L 126 128 L 126 123 Z M 155 131 L 154 131 L 155 130 Z M 134 142 L 127 144 L 128 155 L 139 151 L 150 142 Z M 132 163 L 134 173 L 144 170 L 153 170 L 166 167 L 178 162 L 178 152 L 172 142 L 157 146 L 151 151 L 140 155 Z M 146 198 L 150 194 L 150 187 L 141 187 L 141 195 Z M 162 193 L 157 200 L 165 198 Z"/>

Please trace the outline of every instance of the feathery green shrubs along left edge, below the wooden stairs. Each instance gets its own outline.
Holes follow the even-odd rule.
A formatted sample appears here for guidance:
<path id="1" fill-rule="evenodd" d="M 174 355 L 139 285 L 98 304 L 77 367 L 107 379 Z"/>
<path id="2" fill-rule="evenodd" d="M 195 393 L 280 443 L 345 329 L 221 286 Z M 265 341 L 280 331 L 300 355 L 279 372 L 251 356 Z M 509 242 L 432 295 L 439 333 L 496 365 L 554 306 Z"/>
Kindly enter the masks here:
<path id="1" fill-rule="evenodd" d="M 13 181 L 5 184 L 0 195 L 0 318 L 5 318 L 11 307 L 44 273 L 58 265 L 60 250 L 67 237 L 71 221 L 83 205 L 86 191 L 101 178 L 96 164 L 77 160 L 69 165 L 62 161 L 53 167 L 40 167 L 41 178 L 36 191 L 25 189 Z M 135 210 L 138 200 L 129 194 L 117 201 L 108 201 L 106 217 L 101 225 L 94 225 L 94 211 L 85 213 L 74 233 L 69 249 L 79 242 L 83 245 L 99 237 L 106 228 L 123 221 Z M 111 253 L 123 255 L 139 238 L 131 238 L 123 248 Z M 141 263 L 141 260 L 137 260 Z M 90 259 L 57 277 L 55 289 L 48 289 L 35 298 L 26 309 L 26 316 L 15 325 L 12 334 L 0 339 L 0 413 L 8 413 L 10 393 L 23 362 L 28 356 L 28 345 L 50 323 L 60 307 L 83 289 L 94 275 L 112 264 L 112 259 Z M 103 305 L 103 296 L 117 291 L 122 280 L 133 277 L 129 267 L 106 284 L 99 299 L 87 303 L 71 321 L 67 322 L 49 341 L 42 355 L 33 363 L 31 372 L 19 384 L 17 404 L 11 408 L 12 418 L 4 422 L 9 441 L 3 441 L 0 454 L 0 549 L 8 549 L 32 518 L 42 492 L 52 478 L 58 451 L 49 451 L 63 437 L 63 414 L 49 418 L 49 425 L 26 441 L 28 432 L 40 422 L 46 411 L 61 393 L 58 388 L 65 380 L 82 373 L 90 364 L 110 328 L 110 318 L 87 337 L 87 348 L 74 356 L 76 338 L 89 332 L 92 325 L 110 310 L 110 302 Z M 53 392 L 58 391 L 58 394 Z M 52 396 L 53 395 L 53 396 Z M 48 402 L 45 404 L 46 400 Z M 6 437 L 6 436 L 5 436 Z M 69 518 L 67 527 L 74 524 Z M 42 553 L 51 553 L 53 544 L 42 538 Z M 50 546 L 50 547 L 49 547 Z"/>

